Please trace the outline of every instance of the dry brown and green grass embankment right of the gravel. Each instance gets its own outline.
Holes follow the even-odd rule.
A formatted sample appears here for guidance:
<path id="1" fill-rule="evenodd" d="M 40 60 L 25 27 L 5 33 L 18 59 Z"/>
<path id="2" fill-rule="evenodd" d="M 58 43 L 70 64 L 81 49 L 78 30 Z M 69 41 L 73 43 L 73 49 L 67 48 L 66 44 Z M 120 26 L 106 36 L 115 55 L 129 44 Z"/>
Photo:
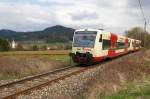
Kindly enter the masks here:
<path id="1" fill-rule="evenodd" d="M 150 50 L 128 54 L 106 64 L 82 98 L 150 99 L 149 77 Z"/>

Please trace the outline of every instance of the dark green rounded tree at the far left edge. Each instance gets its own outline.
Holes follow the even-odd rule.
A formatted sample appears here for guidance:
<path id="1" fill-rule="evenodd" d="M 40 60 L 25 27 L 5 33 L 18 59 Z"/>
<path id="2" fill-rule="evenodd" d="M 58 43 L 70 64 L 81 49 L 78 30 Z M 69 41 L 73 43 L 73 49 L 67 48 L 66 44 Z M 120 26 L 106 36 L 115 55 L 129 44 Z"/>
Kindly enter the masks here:
<path id="1" fill-rule="evenodd" d="M 0 51 L 8 51 L 9 48 L 9 42 L 6 39 L 0 38 Z"/>

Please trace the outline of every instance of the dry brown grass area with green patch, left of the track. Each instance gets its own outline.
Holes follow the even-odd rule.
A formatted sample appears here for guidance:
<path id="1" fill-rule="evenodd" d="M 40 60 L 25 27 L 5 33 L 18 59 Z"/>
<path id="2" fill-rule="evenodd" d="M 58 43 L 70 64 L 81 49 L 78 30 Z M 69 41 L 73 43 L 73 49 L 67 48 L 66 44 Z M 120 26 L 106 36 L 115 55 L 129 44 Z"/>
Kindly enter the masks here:
<path id="1" fill-rule="evenodd" d="M 4 55 L 0 57 L 0 80 L 22 78 L 69 65 L 68 55 Z"/>

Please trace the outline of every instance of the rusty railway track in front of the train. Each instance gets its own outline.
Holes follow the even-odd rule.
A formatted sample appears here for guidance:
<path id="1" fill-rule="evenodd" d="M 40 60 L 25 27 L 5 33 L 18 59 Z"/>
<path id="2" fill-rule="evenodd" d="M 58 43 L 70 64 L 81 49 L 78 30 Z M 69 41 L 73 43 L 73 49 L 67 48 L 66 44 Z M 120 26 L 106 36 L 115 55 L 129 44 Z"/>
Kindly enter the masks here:
<path id="1" fill-rule="evenodd" d="M 20 95 L 30 94 L 31 91 L 59 82 L 60 80 L 77 75 L 96 66 L 98 65 L 88 67 L 69 66 L 52 71 L 48 74 L 40 74 L 27 79 L 4 84 L 0 86 L 0 98 L 16 99 Z"/>

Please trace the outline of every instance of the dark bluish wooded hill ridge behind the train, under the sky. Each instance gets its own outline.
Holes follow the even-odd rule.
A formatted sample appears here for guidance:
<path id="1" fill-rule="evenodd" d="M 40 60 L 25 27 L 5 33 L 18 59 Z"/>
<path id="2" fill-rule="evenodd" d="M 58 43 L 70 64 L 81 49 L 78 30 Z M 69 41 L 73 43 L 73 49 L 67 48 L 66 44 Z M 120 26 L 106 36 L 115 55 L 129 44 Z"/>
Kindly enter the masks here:
<path id="1" fill-rule="evenodd" d="M 68 42 L 72 40 L 74 29 L 56 25 L 48 27 L 41 31 L 32 32 L 16 32 L 13 30 L 0 30 L 0 37 L 8 40 L 15 39 L 17 41 L 36 41 L 42 40 L 46 42 Z"/>

